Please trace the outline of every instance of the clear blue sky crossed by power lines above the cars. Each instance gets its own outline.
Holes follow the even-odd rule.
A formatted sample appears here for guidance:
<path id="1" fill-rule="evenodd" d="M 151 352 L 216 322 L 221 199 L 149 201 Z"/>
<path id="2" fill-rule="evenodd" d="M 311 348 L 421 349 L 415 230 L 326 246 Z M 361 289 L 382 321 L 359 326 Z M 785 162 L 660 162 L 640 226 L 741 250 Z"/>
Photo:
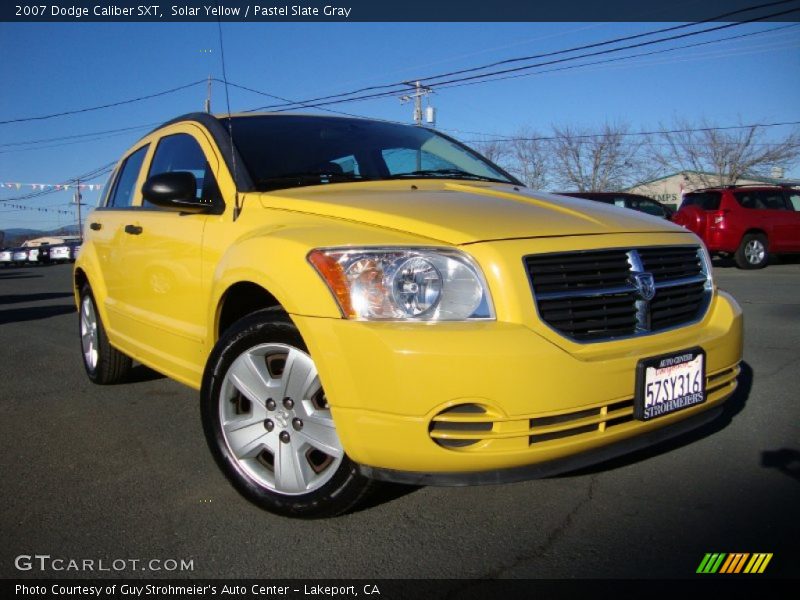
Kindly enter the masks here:
<path id="1" fill-rule="evenodd" d="M 506 58 L 603 41 L 663 23 L 224 23 L 228 80 L 292 99 L 413 80 Z M 644 48 L 719 39 L 786 23 L 754 23 Z M 216 23 L 0 23 L 0 121 L 95 106 L 222 76 Z M 42 121 L 0 125 L 0 182 L 59 183 L 116 160 L 144 127 L 90 141 L 36 146 L 18 142 L 165 121 L 201 110 L 205 86 L 126 106 Z M 462 140 L 513 134 L 551 124 L 633 130 L 675 118 L 718 125 L 800 121 L 800 27 L 604 66 L 444 89 L 431 96 L 437 126 Z M 231 89 L 236 111 L 268 98 Z M 224 111 L 214 84 L 212 108 Z M 411 122 L 396 97 L 331 107 Z M 788 129 L 774 128 L 780 135 Z M 6 144 L 6 145 L 3 145 Z M 795 167 L 790 174 L 800 176 Z M 94 183 L 102 182 L 102 179 Z M 0 200 L 26 192 L 0 189 Z M 84 201 L 96 202 L 87 191 Z M 23 202 L 68 209 L 70 192 Z M 49 229 L 74 222 L 56 213 L 11 210 L 0 203 L 0 230 Z"/>

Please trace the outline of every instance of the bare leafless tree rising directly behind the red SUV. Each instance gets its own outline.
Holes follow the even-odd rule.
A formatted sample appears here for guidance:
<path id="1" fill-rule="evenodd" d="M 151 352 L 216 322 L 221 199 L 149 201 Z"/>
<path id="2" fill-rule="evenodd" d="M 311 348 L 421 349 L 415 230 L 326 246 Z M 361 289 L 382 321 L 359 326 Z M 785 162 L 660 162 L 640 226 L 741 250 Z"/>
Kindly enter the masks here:
<path id="1" fill-rule="evenodd" d="M 667 129 L 667 127 L 662 127 Z M 731 185 L 748 175 L 769 175 L 800 158 L 800 131 L 770 141 L 766 128 L 751 125 L 720 129 L 703 120 L 695 125 L 677 120 L 660 134 L 652 157 L 664 170 L 683 171 L 694 186 Z"/>

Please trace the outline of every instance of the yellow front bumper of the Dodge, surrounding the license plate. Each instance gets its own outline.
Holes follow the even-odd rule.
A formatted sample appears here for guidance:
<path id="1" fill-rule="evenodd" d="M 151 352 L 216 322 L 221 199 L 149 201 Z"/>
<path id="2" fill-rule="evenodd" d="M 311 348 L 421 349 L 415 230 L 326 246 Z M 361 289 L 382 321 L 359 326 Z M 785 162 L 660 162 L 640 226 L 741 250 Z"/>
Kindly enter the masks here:
<path id="1" fill-rule="evenodd" d="M 741 310 L 725 293 L 714 296 L 700 323 L 580 351 L 502 321 L 292 318 L 317 363 L 348 456 L 370 476 L 403 481 L 529 478 L 537 476 L 535 465 L 547 474 L 554 465 L 552 472 L 588 464 L 572 457 L 599 453 L 604 460 L 654 443 L 662 428 L 707 411 L 704 417 L 713 416 L 736 388 L 742 357 Z M 695 346 L 706 352 L 706 402 L 634 420 L 637 362 Z M 483 413 L 448 415 L 464 405 Z M 459 422 L 473 421 L 482 423 L 475 431 L 459 429 Z"/>

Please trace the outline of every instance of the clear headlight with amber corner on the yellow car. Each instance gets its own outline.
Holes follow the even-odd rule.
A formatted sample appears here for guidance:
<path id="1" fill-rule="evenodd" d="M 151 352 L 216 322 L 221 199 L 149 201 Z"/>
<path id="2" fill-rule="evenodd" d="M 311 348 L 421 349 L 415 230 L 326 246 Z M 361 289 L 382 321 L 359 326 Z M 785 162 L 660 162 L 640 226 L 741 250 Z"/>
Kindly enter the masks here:
<path id="1" fill-rule="evenodd" d="M 494 318 L 480 269 L 457 250 L 328 248 L 312 250 L 308 261 L 348 319 Z"/>

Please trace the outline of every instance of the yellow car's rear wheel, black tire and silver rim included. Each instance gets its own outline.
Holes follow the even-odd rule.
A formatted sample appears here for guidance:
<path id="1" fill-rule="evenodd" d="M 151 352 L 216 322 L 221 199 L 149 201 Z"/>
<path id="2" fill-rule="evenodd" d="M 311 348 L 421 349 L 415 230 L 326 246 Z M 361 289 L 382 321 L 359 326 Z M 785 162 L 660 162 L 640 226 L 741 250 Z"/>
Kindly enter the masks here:
<path id="1" fill-rule="evenodd" d="M 83 367 L 89 379 L 94 383 L 108 385 L 119 383 L 127 377 L 132 361 L 108 343 L 106 329 L 88 284 L 81 288 L 78 333 L 81 338 Z"/>

